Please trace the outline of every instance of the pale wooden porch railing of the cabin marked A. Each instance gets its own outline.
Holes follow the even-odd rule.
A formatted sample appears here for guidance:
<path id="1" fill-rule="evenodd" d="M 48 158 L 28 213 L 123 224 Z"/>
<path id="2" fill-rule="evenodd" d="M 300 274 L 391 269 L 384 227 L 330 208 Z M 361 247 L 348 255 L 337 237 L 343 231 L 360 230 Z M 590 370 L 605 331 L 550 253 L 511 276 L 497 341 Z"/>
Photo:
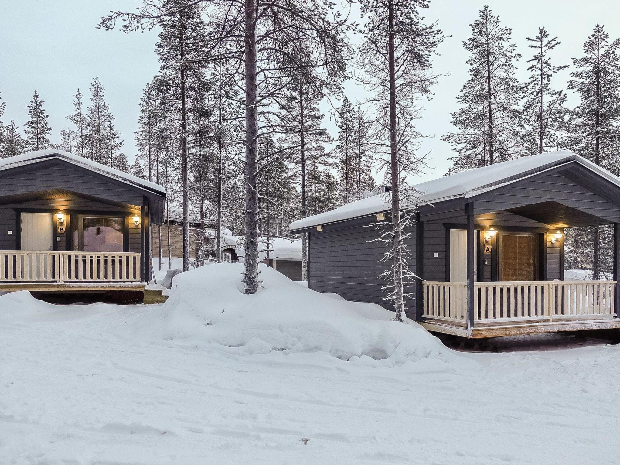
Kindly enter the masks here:
<path id="1" fill-rule="evenodd" d="M 474 324 L 614 317 L 616 281 L 502 281 L 474 285 Z M 423 316 L 464 322 L 466 283 L 425 281 Z"/>

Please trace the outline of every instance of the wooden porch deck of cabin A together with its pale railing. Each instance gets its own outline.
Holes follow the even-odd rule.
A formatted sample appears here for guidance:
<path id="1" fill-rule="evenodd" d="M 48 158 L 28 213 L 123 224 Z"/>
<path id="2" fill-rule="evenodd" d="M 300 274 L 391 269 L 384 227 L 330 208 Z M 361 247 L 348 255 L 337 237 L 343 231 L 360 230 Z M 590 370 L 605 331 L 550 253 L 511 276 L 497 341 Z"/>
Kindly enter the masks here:
<path id="1" fill-rule="evenodd" d="M 616 281 L 481 282 L 473 291 L 468 304 L 466 283 L 426 281 L 420 324 L 467 338 L 620 329 Z"/>

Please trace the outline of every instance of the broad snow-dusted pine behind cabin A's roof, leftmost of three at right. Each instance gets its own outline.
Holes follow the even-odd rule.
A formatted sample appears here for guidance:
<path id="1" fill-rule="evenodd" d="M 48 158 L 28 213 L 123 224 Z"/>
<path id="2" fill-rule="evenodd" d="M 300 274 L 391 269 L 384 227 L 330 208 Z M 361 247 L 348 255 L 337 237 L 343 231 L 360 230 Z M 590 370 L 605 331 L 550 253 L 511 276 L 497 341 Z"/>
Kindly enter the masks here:
<path id="1" fill-rule="evenodd" d="M 472 35 L 463 47 L 469 52 L 469 79 L 451 113 L 455 130 L 441 139 L 457 153 L 452 172 L 509 160 L 522 152 L 520 85 L 515 62 L 521 55 L 511 40 L 512 29 L 503 27 L 489 6 L 471 24 Z"/>

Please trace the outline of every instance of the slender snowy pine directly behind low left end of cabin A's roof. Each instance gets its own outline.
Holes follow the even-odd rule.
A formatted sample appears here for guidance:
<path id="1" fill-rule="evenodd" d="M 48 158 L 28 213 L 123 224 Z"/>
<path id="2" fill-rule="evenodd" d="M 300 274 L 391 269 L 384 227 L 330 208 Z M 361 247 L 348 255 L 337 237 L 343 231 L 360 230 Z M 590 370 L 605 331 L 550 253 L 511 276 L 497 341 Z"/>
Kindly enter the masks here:
<path id="1" fill-rule="evenodd" d="M 341 203 L 356 200 L 355 192 L 355 143 L 353 131 L 355 130 L 355 110 L 350 100 L 345 95 L 342 105 L 337 110 L 336 125 L 338 126 L 338 143 L 334 148 L 337 159 L 338 176 L 340 178 Z"/>

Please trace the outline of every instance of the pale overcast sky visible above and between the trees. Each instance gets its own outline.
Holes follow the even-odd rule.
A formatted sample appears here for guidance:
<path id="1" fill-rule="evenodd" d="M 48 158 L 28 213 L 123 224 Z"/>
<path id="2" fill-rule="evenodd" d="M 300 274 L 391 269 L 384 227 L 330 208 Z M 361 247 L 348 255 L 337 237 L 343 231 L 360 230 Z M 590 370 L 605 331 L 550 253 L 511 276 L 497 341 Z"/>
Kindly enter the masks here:
<path id="1" fill-rule="evenodd" d="M 35 89 L 45 101 L 53 128 L 51 140 L 58 142 L 60 130 L 68 128 L 66 115 L 72 111 L 73 94 L 79 88 L 88 94 L 89 84 L 99 76 L 105 87 L 116 126 L 125 141 L 124 150 L 130 160 L 136 154 L 133 132 L 137 128 L 138 102 L 142 89 L 157 73 L 154 44 L 157 32 L 131 33 L 97 30 L 99 17 L 110 10 L 133 9 L 138 0 L 1 0 L 0 1 L 0 96 L 7 102 L 2 118 L 14 119 L 22 128 L 27 121 L 27 108 Z M 527 77 L 529 50 L 525 38 L 533 37 L 539 26 L 562 42 L 554 50 L 556 64 L 569 64 L 570 58 L 582 53 L 582 45 L 598 22 L 606 25 L 611 39 L 620 37 L 620 2 L 616 0 L 490 0 L 495 14 L 513 29 L 513 39 L 523 55 L 518 64 L 518 77 Z M 431 151 L 429 174 L 443 175 L 451 156 L 441 135 L 451 129 L 450 112 L 457 108 L 456 96 L 467 79 L 467 55 L 462 42 L 469 37 L 469 24 L 477 18 L 485 2 L 470 0 L 434 0 L 429 19 L 437 19 L 448 38 L 435 58 L 440 78 L 435 98 L 423 102 L 425 112 L 418 123 L 427 139 L 423 149 Z M 569 71 L 561 74 L 554 86 L 564 87 Z M 354 82 L 345 84 L 348 97 L 363 101 L 364 91 Z M 569 95 L 569 104 L 575 99 Z M 325 108 L 326 105 L 324 105 Z M 326 118 L 330 131 L 334 125 Z M 334 133 L 335 135 L 335 133 Z"/>

